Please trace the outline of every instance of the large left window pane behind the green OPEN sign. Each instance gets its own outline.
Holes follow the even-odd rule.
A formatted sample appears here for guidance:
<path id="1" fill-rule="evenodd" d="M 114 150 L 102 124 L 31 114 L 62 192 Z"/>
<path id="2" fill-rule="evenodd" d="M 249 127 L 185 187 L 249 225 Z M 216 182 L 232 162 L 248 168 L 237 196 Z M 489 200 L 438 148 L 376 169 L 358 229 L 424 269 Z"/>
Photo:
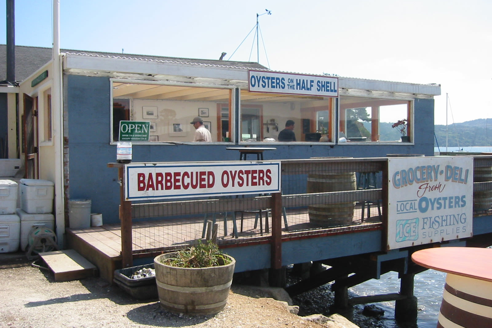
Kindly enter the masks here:
<path id="1" fill-rule="evenodd" d="M 113 140 L 121 120 L 150 122 L 150 140 L 192 142 L 197 116 L 211 132 L 212 141 L 228 141 L 231 89 L 113 81 Z M 231 140 L 232 141 L 232 140 Z"/>

